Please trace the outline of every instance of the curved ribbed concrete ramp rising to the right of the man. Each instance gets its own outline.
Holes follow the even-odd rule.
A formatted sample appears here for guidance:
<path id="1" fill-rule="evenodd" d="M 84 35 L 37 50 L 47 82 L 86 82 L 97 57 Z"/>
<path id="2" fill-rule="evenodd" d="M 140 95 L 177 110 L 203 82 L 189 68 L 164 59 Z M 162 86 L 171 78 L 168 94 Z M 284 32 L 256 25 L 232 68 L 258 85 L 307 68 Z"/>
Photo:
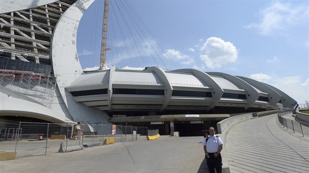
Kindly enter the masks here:
<path id="1" fill-rule="evenodd" d="M 309 173 L 309 142 L 276 120 L 267 115 L 232 128 L 225 144 L 231 173 Z"/>

